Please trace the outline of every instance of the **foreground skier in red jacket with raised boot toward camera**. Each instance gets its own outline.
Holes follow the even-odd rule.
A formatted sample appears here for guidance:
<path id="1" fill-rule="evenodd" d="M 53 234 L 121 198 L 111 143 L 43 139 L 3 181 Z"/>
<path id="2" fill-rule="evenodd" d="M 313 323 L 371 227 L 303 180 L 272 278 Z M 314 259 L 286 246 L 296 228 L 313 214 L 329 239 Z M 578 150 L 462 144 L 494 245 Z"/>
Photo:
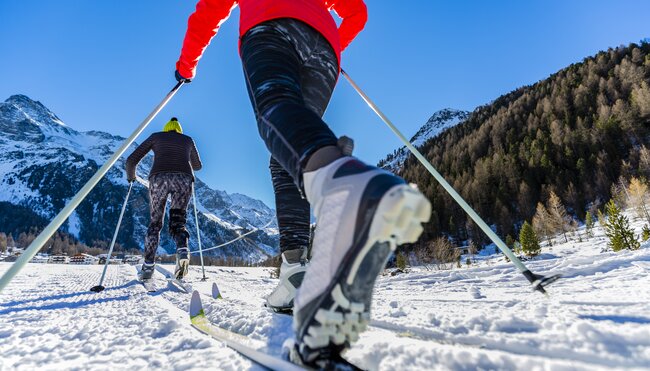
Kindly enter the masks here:
<path id="1" fill-rule="evenodd" d="M 179 81 L 195 77 L 203 51 L 236 5 L 259 133 L 316 217 L 311 263 L 294 300 L 292 357 L 318 366 L 364 330 L 377 275 L 397 245 L 417 240 L 431 206 L 403 179 L 345 155 L 321 119 L 341 51 L 365 25 L 363 1 L 200 0 L 176 63 Z M 330 10 L 342 18 L 338 28 Z"/>

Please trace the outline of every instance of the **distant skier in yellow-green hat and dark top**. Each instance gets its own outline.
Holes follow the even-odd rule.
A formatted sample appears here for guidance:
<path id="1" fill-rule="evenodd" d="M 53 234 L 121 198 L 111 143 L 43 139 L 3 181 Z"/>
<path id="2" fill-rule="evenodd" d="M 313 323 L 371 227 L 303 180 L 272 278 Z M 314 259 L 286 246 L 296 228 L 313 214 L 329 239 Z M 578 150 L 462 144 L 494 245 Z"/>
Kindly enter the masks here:
<path id="1" fill-rule="evenodd" d="M 192 195 L 193 170 L 203 166 L 192 138 L 183 135 L 183 129 L 176 117 L 165 124 L 162 132 L 153 133 L 126 160 L 126 174 L 129 182 L 135 181 L 135 170 L 140 160 L 149 152 L 154 153 L 154 162 L 149 172 L 149 211 L 151 220 L 147 229 L 144 247 L 144 264 L 140 279 L 153 275 L 156 250 L 163 226 L 167 198 L 171 196 L 169 209 L 169 233 L 176 242 L 176 278 L 187 275 L 190 263 L 188 248 L 189 233 L 185 228 L 187 204 Z"/>

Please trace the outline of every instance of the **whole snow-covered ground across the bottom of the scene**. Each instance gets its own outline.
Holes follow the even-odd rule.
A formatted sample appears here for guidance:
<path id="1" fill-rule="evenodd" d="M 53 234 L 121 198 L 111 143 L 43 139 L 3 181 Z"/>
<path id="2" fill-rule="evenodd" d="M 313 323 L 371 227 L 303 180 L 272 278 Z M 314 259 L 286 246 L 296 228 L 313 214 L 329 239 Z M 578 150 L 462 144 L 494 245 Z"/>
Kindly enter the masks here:
<path id="1" fill-rule="evenodd" d="M 549 298 L 498 256 L 381 277 L 373 326 L 348 358 L 372 370 L 650 369 L 650 244 L 601 252 L 600 233 L 526 262 L 564 275 Z M 206 270 L 208 282 L 197 267 L 191 281 L 210 320 L 279 354 L 291 318 L 262 307 L 276 284 L 269 270 Z M 0 294 L 0 369 L 256 368 L 190 327 L 189 295 L 162 276 L 162 290 L 148 294 L 133 267 L 111 266 L 109 288 L 92 293 L 100 274 L 100 266 L 29 264 Z M 211 282 L 223 300 L 210 298 Z"/>

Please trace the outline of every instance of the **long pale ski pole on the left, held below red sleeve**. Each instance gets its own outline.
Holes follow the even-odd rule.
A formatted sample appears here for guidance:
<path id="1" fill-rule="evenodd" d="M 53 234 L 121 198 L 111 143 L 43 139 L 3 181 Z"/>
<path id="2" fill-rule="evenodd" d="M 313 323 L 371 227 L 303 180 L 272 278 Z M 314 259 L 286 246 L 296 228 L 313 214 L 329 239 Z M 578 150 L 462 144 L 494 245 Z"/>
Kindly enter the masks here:
<path id="1" fill-rule="evenodd" d="M 106 161 L 104 165 L 102 165 L 99 170 L 95 173 L 95 175 L 86 182 L 86 184 L 77 192 L 77 194 L 70 200 L 70 202 L 61 210 L 57 216 L 52 219 L 50 224 L 48 224 L 45 229 L 32 241 L 31 244 L 29 244 L 29 247 L 23 252 L 23 254 L 16 260 L 16 262 L 9 267 L 9 269 L 5 272 L 4 275 L 0 278 L 0 292 L 11 282 L 11 280 L 20 272 L 21 269 L 27 264 L 33 257 L 36 255 L 36 253 L 45 245 L 47 240 L 52 237 L 54 232 L 56 232 L 57 229 L 68 219 L 70 214 L 79 206 L 81 201 L 83 201 L 86 196 L 90 193 L 90 191 L 95 188 L 97 183 L 106 175 L 108 170 L 117 162 L 117 160 L 126 152 L 126 150 L 129 148 L 129 146 L 135 141 L 135 138 L 142 133 L 142 131 L 149 125 L 149 123 L 158 115 L 158 113 L 169 103 L 169 101 L 174 97 L 176 92 L 178 92 L 178 89 L 183 86 L 183 81 L 179 81 L 176 86 L 172 88 L 169 93 L 163 98 L 162 102 L 160 102 L 156 108 L 142 121 L 140 126 L 138 126 L 135 131 L 129 136 L 123 143 L 122 145 L 115 151 L 113 156 Z"/>

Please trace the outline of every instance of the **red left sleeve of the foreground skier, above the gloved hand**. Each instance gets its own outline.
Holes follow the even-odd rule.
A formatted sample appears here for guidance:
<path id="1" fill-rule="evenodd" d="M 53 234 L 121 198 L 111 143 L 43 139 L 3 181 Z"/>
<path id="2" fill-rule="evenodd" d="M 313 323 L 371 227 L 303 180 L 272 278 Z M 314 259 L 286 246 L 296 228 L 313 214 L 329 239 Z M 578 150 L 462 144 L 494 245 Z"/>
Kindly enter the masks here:
<path id="1" fill-rule="evenodd" d="M 181 76 L 187 79 L 194 78 L 196 65 L 199 64 L 203 51 L 217 34 L 221 24 L 228 19 L 237 2 L 237 0 L 199 0 L 196 11 L 187 21 L 181 56 L 176 62 L 176 70 Z"/>

